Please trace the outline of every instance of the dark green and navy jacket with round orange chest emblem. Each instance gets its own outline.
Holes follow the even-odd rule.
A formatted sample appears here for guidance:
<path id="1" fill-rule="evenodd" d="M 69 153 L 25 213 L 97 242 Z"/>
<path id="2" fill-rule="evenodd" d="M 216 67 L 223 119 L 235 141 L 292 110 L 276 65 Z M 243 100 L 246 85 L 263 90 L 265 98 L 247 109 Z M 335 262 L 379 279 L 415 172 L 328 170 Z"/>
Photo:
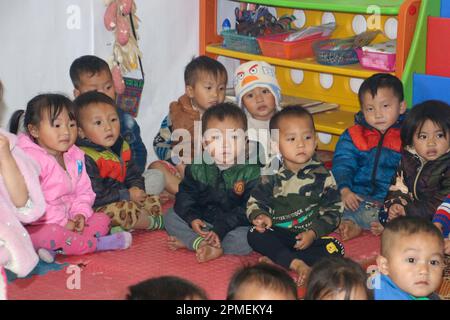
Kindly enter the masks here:
<path id="1" fill-rule="evenodd" d="M 221 171 L 215 164 L 186 166 L 175 199 L 175 212 L 189 225 L 195 219 L 211 223 L 220 239 L 239 226 L 249 226 L 245 215 L 250 191 L 260 167 L 234 165 Z"/>

